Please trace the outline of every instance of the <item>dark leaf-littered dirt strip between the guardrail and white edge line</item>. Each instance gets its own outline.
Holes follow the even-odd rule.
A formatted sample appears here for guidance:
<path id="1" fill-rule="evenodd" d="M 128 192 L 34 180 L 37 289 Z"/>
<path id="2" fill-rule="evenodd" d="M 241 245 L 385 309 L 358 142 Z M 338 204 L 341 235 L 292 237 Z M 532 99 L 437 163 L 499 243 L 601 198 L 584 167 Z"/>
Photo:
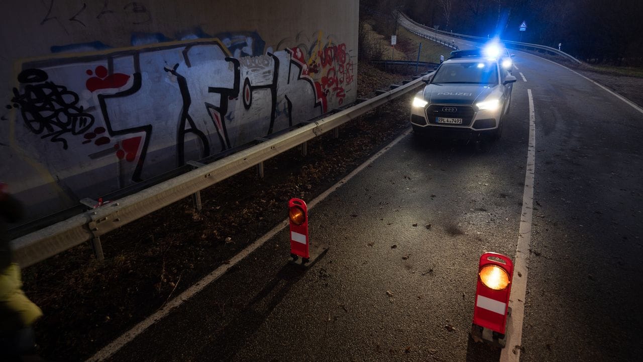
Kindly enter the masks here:
<path id="1" fill-rule="evenodd" d="M 358 96 L 403 75 L 358 65 Z M 248 169 L 191 198 L 102 236 L 105 260 L 88 243 L 24 270 L 24 289 L 44 317 L 35 330 L 41 355 L 78 361 L 120 336 L 173 296 L 226 263 L 287 217 L 292 197 L 311 200 L 408 128 L 407 93 L 308 144 L 264 163 L 265 177 Z"/>

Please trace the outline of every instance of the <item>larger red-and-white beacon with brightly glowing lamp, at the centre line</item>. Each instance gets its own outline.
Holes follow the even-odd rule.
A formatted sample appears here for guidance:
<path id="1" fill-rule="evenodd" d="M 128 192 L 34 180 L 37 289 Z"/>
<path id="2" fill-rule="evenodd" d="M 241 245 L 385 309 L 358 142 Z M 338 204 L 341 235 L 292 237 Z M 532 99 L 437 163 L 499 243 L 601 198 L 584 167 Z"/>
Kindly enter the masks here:
<path id="1" fill-rule="evenodd" d="M 511 259 L 497 252 L 485 252 L 478 265 L 478 287 L 473 309 L 471 337 L 474 341 L 487 341 L 505 347 L 509 292 L 514 264 Z"/>

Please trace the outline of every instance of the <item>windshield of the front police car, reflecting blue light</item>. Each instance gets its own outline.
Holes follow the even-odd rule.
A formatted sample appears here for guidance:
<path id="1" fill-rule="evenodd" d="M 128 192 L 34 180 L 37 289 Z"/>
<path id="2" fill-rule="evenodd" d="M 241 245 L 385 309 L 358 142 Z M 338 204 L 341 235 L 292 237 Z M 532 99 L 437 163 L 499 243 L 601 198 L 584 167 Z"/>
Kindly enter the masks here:
<path id="1" fill-rule="evenodd" d="M 444 63 L 432 83 L 498 84 L 498 71 L 494 62 Z"/>

